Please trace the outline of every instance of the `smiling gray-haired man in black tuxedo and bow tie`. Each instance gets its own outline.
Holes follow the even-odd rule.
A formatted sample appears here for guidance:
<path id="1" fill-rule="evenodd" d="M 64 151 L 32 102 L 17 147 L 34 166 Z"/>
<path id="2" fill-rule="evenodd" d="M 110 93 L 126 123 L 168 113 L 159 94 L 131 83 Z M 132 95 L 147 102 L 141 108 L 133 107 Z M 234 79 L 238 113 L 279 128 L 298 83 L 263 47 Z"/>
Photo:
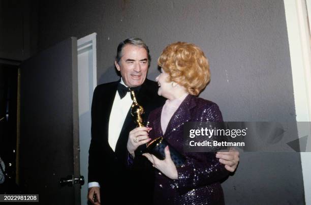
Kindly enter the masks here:
<path id="1" fill-rule="evenodd" d="M 150 66 L 147 45 L 139 38 L 128 38 L 117 47 L 115 67 L 121 79 L 98 85 L 91 107 L 91 143 L 88 158 L 88 199 L 94 204 L 149 204 L 152 201 L 153 170 L 147 159 L 136 156 L 134 168 L 127 167 L 129 132 L 136 125 L 130 113 L 133 103 L 128 87 L 144 108 L 143 118 L 164 104 L 158 84 L 146 79 Z M 140 141 L 147 142 L 147 139 Z M 234 171 L 238 152 L 220 154 L 221 162 Z M 135 168 L 136 167 L 136 168 Z M 97 202 L 94 201 L 97 196 Z"/>

